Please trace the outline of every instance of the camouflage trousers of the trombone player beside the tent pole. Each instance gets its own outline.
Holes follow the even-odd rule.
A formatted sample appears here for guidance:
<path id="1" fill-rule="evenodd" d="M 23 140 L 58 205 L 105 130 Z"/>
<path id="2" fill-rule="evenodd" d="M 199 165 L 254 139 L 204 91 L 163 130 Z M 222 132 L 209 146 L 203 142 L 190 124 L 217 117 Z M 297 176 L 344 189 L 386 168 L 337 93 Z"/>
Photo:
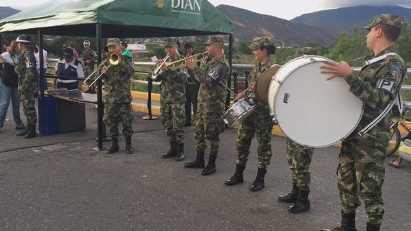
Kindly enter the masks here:
<path id="1" fill-rule="evenodd" d="M 132 131 L 132 116 L 131 103 L 121 104 L 104 104 L 103 121 L 108 127 L 111 137 L 119 137 L 119 122 L 123 124 L 123 136 L 130 137 L 134 133 Z"/>

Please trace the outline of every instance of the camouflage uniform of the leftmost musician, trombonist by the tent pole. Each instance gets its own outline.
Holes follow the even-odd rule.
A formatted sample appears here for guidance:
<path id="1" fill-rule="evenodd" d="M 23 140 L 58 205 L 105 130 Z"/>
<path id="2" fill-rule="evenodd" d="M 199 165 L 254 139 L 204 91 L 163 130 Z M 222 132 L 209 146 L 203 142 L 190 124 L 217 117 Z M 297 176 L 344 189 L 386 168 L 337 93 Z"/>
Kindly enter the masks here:
<path id="1" fill-rule="evenodd" d="M 97 67 L 96 77 L 101 73 L 104 66 L 104 60 Z M 131 92 L 130 92 L 130 77 L 134 74 L 134 69 L 124 59 L 121 59 L 120 64 L 111 65 L 107 69 L 104 77 L 104 123 L 108 126 L 108 130 L 113 138 L 119 136 L 118 125 L 123 123 L 123 136 L 130 137 L 132 131 L 132 108 L 131 108 Z"/>

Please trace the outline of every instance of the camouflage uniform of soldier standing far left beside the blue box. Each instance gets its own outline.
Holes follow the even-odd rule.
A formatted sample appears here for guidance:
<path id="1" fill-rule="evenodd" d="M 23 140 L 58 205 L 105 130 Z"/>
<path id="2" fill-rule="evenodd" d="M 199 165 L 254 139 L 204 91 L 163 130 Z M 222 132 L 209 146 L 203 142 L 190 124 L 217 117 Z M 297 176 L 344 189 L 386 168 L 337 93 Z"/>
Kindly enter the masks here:
<path id="1" fill-rule="evenodd" d="M 38 72 L 36 69 L 36 57 L 32 51 L 25 51 L 18 64 L 19 76 L 22 79 L 23 112 L 27 118 L 27 127 L 37 123 L 36 101 L 34 93 L 37 88 Z"/>

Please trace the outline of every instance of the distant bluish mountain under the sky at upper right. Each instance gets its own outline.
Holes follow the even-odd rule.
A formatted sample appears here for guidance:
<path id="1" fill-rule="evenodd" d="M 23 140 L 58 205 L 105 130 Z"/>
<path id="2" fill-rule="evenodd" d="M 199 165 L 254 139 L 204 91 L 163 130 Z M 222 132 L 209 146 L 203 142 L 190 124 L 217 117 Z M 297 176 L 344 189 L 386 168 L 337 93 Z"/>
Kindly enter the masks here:
<path id="1" fill-rule="evenodd" d="M 373 21 L 377 14 L 396 14 L 411 20 L 411 9 L 399 6 L 371 6 L 360 5 L 333 10 L 322 10 L 309 14 L 303 14 L 291 21 L 305 25 L 318 27 L 338 36 L 341 32 L 351 32 L 353 27 L 364 27 Z"/>

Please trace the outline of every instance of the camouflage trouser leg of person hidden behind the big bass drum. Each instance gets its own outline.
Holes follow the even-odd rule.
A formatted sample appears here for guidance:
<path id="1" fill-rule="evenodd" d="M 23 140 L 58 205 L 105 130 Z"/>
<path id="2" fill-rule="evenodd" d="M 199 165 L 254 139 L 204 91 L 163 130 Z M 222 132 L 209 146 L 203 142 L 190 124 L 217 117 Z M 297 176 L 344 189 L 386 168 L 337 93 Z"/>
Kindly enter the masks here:
<path id="1" fill-rule="evenodd" d="M 292 171 L 292 180 L 298 189 L 309 191 L 311 175 L 309 165 L 311 164 L 314 148 L 299 145 L 287 138 L 287 160 Z"/>

